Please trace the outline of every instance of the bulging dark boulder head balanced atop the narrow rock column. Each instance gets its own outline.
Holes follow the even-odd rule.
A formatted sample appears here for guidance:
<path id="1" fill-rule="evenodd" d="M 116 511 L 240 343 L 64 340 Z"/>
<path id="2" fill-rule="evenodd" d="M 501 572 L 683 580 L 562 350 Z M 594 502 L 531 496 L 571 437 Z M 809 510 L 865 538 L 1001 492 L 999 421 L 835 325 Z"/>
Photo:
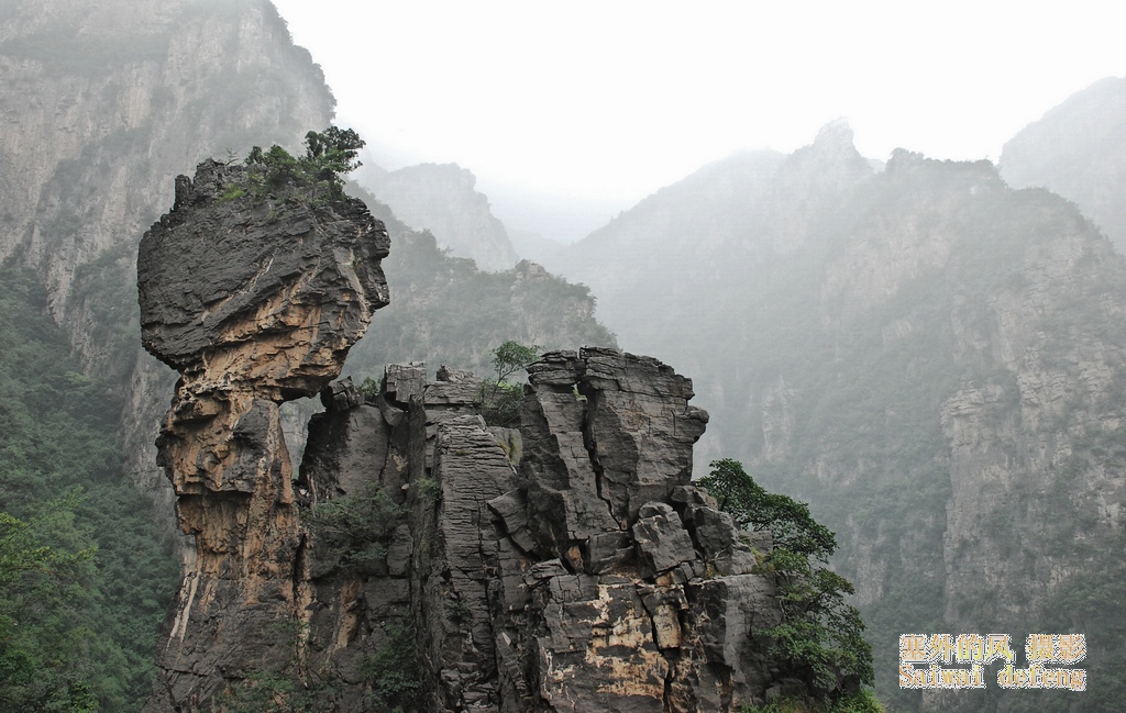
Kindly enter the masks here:
<path id="1" fill-rule="evenodd" d="M 391 243 L 363 201 L 229 199 L 245 181 L 214 161 L 177 179 L 141 241 L 141 339 L 190 391 L 312 396 L 388 303 Z"/>

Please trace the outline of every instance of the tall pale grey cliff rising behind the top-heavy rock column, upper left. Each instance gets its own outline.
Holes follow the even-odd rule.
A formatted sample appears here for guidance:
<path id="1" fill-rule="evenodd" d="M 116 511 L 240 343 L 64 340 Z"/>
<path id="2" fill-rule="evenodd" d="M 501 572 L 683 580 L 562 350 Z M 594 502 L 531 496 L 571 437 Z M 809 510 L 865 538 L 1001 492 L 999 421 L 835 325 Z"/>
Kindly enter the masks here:
<path id="1" fill-rule="evenodd" d="M 129 477 L 167 520 L 152 444 L 172 379 L 135 336 L 137 236 L 177 172 L 300 145 L 332 93 L 256 0 L 14 0 L 0 42 L 0 259 L 36 274 L 83 371 L 124 396 Z"/>

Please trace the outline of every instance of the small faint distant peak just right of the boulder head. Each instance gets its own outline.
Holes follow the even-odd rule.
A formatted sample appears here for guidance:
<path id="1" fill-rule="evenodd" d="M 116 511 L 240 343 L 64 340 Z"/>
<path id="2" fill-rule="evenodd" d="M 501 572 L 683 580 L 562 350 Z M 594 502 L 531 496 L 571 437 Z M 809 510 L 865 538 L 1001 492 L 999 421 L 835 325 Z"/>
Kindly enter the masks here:
<path id="1" fill-rule="evenodd" d="M 476 178 L 454 163 L 423 163 L 397 171 L 369 172 L 364 183 L 415 229 L 428 229 L 438 245 L 470 258 L 485 270 L 508 270 L 518 258 L 504 225 L 475 190 Z"/>

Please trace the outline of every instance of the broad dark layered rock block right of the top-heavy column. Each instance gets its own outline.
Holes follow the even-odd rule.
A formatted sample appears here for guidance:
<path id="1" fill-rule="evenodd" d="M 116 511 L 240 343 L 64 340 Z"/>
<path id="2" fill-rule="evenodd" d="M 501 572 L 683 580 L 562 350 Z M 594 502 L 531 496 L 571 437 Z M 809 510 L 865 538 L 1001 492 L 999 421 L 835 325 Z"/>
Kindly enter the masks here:
<path id="1" fill-rule="evenodd" d="M 529 374 L 519 428 L 484 424 L 475 380 L 426 383 L 418 364 L 390 367 L 364 404 L 348 385 L 325 391 L 297 488 L 304 666 L 338 682 L 318 710 L 761 702 L 776 682 L 757 632 L 780 612 L 731 518 L 689 482 L 707 422 L 691 382 L 595 349 Z M 372 515 L 351 536 L 318 515 L 351 506 Z M 403 671 L 415 695 L 388 686 Z"/>

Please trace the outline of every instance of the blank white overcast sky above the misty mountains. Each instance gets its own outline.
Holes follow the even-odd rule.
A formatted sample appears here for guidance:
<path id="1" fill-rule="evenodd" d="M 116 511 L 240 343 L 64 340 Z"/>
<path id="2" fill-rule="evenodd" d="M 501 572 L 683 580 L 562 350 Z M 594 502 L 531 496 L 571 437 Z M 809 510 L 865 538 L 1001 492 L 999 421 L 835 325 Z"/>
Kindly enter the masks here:
<path id="1" fill-rule="evenodd" d="M 384 168 L 456 162 L 486 193 L 623 207 L 841 116 L 869 157 L 997 161 L 1067 96 L 1126 74 L 1117 0 L 275 4 Z"/>

